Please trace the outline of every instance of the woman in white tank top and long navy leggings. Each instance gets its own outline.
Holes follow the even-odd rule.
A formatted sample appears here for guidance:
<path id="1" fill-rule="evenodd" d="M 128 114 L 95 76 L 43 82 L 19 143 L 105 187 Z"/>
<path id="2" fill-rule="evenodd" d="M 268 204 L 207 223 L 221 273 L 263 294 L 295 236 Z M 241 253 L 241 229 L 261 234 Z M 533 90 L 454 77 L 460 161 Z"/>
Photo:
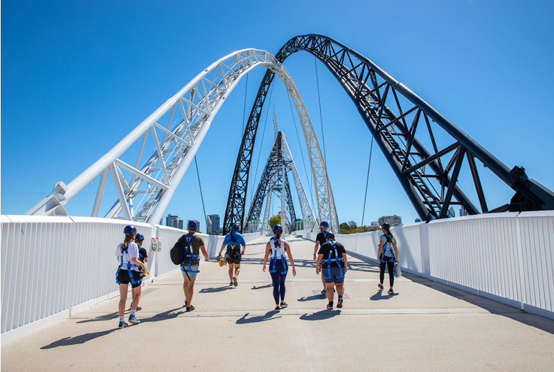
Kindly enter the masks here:
<path id="1" fill-rule="evenodd" d="M 288 265 L 287 256 L 289 257 L 290 264 L 292 266 L 292 276 L 296 277 L 296 268 L 294 268 L 294 259 L 290 252 L 290 245 L 287 241 L 281 239 L 283 234 L 283 227 L 281 225 L 275 225 L 273 227 L 274 237 L 269 239 L 267 245 L 265 245 L 264 267 L 269 259 L 269 274 L 273 281 L 273 297 L 275 299 L 275 311 L 279 312 L 280 309 L 286 308 L 288 305 L 285 302 L 285 279 L 287 279 Z M 286 255 L 285 255 L 286 254 Z M 280 299 L 280 302 L 279 302 Z"/>

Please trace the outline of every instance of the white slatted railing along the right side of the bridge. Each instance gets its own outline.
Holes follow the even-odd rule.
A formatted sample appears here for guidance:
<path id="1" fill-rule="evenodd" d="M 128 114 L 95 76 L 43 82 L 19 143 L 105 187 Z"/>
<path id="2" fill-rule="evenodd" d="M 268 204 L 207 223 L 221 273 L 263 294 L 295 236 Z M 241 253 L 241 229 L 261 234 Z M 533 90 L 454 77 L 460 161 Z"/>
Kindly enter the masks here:
<path id="1" fill-rule="evenodd" d="M 479 214 L 394 227 L 402 270 L 554 319 L 554 211 Z M 377 260 L 382 233 L 337 234 Z M 312 241 L 316 233 L 304 233 Z"/>

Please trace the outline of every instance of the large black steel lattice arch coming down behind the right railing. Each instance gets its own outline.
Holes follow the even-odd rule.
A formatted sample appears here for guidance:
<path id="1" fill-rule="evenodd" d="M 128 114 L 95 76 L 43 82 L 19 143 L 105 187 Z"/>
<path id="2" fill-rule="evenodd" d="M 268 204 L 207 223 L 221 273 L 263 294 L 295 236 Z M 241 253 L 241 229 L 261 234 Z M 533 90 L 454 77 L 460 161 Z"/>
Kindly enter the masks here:
<path id="1" fill-rule="evenodd" d="M 516 166 L 510 170 L 436 109 L 368 58 L 323 35 L 293 37 L 279 50 L 276 58 L 283 62 L 289 55 L 301 50 L 318 58 L 339 80 L 422 221 L 447 217 L 448 208 L 453 204 L 465 207 L 468 214 L 506 210 L 512 212 L 554 210 L 554 193 L 536 180 L 528 178 L 523 167 Z M 268 71 L 260 85 L 258 97 L 261 95 L 265 97 L 272 78 L 272 73 Z M 400 102 L 402 99 L 404 102 L 409 102 L 408 109 L 405 107 L 402 109 Z M 411 122 L 409 122 L 410 119 Z M 431 122 L 436 122 L 440 129 L 452 137 L 454 141 L 452 145 L 443 149 L 437 147 Z M 429 132 L 433 151 L 427 150 L 415 137 L 418 127 L 423 127 Z M 247 136 L 246 131 L 244 136 Z M 446 165 L 443 165 L 442 158 L 453 151 L 452 157 Z M 241 156 L 242 147 L 237 165 Z M 481 211 L 456 185 L 464 158 L 467 158 L 470 167 Z M 475 158 L 515 190 L 510 203 L 492 210 L 488 209 Z M 434 184 L 438 184 L 440 189 L 437 190 Z M 233 181 L 231 189 L 234 187 Z M 245 197 L 246 193 L 244 193 Z M 244 218 L 244 207 L 242 218 Z"/>

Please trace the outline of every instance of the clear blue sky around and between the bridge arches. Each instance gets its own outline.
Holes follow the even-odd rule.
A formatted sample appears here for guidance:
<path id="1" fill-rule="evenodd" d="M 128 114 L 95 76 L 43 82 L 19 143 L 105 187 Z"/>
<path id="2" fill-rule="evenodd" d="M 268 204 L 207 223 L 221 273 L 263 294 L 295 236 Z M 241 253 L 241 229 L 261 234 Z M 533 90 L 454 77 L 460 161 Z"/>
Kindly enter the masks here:
<path id="1" fill-rule="evenodd" d="M 276 54 L 291 37 L 306 33 L 333 37 L 373 60 L 508 167 L 521 165 L 554 189 L 553 8 L 536 0 L 2 1 L 1 214 L 24 214 L 57 181 L 69 183 L 220 57 L 244 48 Z M 296 53 L 285 68 L 320 145 L 323 122 L 339 220 L 359 224 L 368 129 L 318 62 L 320 119 L 314 57 Z M 241 80 L 197 154 L 206 212 L 222 219 L 242 137 L 245 91 L 248 116 L 264 72 L 250 73 L 248 86 Z M 305 149 L 298 146 L 284 86 L 276 83 L 271 109 L 275 104 L 303 175 Z M 262 131 L 253 158 L 256 173 L 261 146 L 257 180 L 273 141 L 271 112 L 263 145 Z M 512 190 L 482 174 L 489 207 L 508 203 Z M 69 214 L 91 214 L 97 185 L 66 205 Z M 104 201 L 100 214 L 116 201 L 113 187 Z M 167 213 L 204 220 L 195 167 Z M 398 214 L 404 223 L 417 217 L 374 147 L 364 222 L 384 214 Z"/>

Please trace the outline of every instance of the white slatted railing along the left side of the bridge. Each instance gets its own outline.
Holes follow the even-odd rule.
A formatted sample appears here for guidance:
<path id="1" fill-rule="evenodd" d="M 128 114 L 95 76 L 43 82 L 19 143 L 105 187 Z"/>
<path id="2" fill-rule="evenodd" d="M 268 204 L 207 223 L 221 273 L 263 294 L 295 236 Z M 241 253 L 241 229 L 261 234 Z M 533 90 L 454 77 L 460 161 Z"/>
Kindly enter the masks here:
<path id="1" fill-rule="evenodd" d="M 119 295 L 116 247 L 125 225 L 134 225 L 145 238 L 150 275 L 144 283 L 179 270 L 169 251 L 186 233 L 93 217 L 0 216 L 0 222 L 2 342 Z M 200 236 L 209 257 L 215 257 L 224 236 Z M 152 251 L 153 237 L 161 241 L 161 252 Z M 244 240 L 259 237 L 246 234 Z"/>

